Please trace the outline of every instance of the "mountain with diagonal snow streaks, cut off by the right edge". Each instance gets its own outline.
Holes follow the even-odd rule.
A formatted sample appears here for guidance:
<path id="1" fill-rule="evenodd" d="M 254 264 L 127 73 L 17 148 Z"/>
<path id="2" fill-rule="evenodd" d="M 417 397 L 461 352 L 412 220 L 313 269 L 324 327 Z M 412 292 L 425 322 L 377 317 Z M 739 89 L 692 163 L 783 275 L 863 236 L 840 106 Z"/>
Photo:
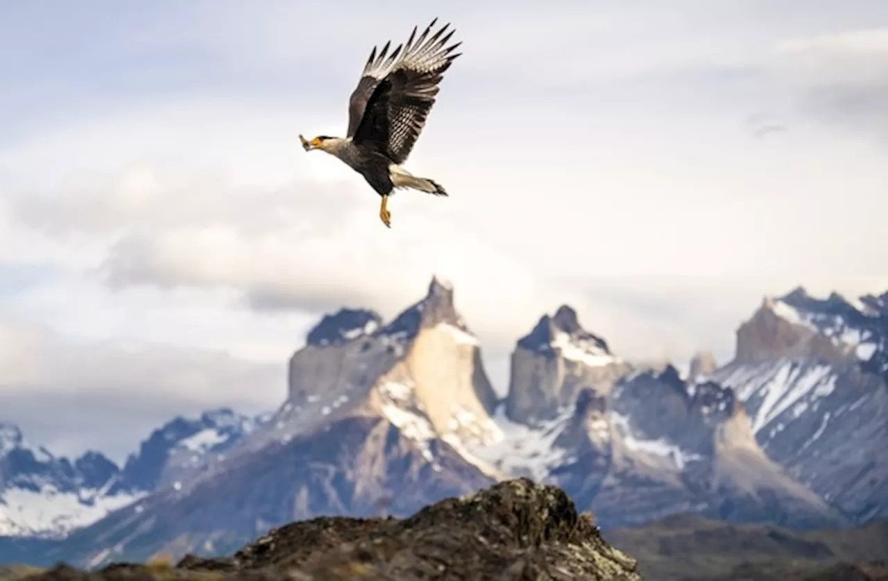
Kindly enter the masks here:
<path id="1" fill-rule="evenodd" d="M 765 298 L 710 378 L 745 402 L 768 457 L 854 521 L 888 515 L 888 293 Z"/>

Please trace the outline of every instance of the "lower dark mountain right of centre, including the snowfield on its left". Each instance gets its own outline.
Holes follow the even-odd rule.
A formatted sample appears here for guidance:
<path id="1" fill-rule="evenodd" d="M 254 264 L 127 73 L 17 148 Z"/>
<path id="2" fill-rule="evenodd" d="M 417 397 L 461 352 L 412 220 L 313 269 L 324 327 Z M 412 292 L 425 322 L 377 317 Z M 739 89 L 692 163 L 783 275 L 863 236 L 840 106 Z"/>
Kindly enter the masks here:
<path id="1" fill-rule="evenodd" d="M 556 483 L 606 527 L 674 513 L 795 527 L 847 519 L 765 454 L 733 390 L 678 370 L 636 370 L 609 394 L 585 387 L 556 418 L 496 417 L 508 434 L 469 451 L 511 475 Z"/>

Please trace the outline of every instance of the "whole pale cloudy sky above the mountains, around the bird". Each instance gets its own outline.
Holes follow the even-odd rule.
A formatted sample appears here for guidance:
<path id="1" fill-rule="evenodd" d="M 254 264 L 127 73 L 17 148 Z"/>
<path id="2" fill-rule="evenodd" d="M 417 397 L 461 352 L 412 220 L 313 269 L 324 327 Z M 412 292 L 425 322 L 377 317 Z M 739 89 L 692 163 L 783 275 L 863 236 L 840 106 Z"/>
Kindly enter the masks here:
<path id="1" fill-rule="evenodd" d="M 392 197 L 342 135 L 369 50 L 463 42 Z M 502 390 L 574 306 L 630 359 L 727 362 L 765 295 L 888 290 L 888 3 L 0 0 L 0 420 L 123 460 L 272 410 L 321 314 L 432 278 Z"/>

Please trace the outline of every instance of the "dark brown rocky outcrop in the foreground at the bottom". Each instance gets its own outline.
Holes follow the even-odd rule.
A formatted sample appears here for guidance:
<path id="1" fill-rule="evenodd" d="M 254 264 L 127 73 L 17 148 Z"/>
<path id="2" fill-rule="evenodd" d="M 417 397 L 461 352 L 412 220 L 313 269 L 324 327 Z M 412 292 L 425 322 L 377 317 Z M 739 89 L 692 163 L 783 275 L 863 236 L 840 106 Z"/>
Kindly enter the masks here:
<path id="1" fill-rule="evenodd" d="M 619 579 L 636 561 L 604 541 L 567 494 L 527 479 L 448 498 L 407 519 L 322 517 L 271 530 L 231 557 L 175 566 L 114 564 L 85 573 L 59 565 L 28 581 L 127 579 Z"/>

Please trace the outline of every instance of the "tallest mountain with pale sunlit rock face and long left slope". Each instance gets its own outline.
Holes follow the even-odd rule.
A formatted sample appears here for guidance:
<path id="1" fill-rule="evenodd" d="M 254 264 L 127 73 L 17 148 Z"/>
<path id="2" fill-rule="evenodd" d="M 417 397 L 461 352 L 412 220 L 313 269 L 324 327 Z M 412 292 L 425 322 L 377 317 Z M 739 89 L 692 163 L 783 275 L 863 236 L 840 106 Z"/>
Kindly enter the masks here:
<path id="1" fill-rule="evenodd" d="M 97 565 L 225 552 L 294 519 L 406 515 L 495 482 L 496 470 L 458 448 L 495 437 L 496 426 L 479 341 L 452 288 L 433 280 L 392 322 L 365 324 L 374 319 L 325 317 L 293 355 L 289 397 L 273 417 L 178 486 L 75 531 L 60 554 Z"/>

